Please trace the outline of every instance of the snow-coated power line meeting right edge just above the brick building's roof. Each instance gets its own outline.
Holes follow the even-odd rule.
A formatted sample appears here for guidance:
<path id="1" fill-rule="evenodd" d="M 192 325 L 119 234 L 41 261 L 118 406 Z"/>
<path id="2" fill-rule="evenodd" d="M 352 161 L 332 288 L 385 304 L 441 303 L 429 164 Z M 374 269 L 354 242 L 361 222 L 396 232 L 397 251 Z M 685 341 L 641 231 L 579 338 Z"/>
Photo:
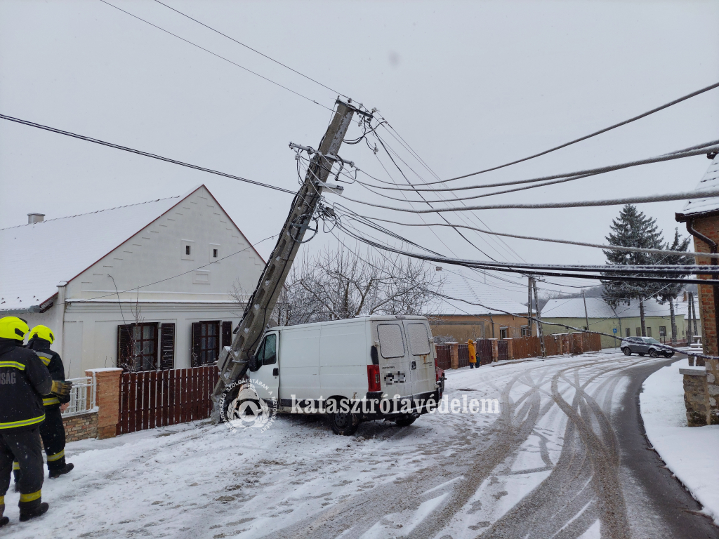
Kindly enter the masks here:
<path id="1" fill-rule="evenodd" d="M 629 167 L 637 167 L 639 165 L 651 165 L 652 163 L 658 163 L 658 162 L 664 162 L 664 161 L 672 161 L 675 159 L 684 159 L 684 157 L 693 157 L 695 155 L 705 155 L 710 152 L 715 152 L 719 149 L 719 139 L 713 140 L 710 142 L 705 142 L 702 144 L 697 144 L 695 146 L 679 149 L 676 152 L 670 152 L 668 154 L 663 155 L 657 155 L 656 157 L 649 157 L 647 159 L 641 159 L 636 161 L 630 161 L 630 162 L 624 162 L 620 163 L 618 165 L 608 165 L 605 167 L 596 167 L 596 168 L 590 168 L 587 170 L 577 170 L 575 172 L 564 172 L 562 174 L 554 174 L 549 176 L 540 176 L 539 178 L 529 178 L 528 180 L 513 180 L 510 182 L 500 182 L 500 183 L 490 183 L 490 184 L 484 184 L 484 185 L 463 185 L 462 187 L 454 187 L 454 188 L 395 188 L 391 186 L 383 186 L 383 185 L 370 185 L 372 188 L 375 189 L 385 189 L 385 190 L 418 190 L 418 191 L 432 191 L 432 192 L 440 192 L 440 191 L 462 191 L 462 190 L 468 190 L 468 189 L 483 189 L 488 187 L 503 187 L 505 185 L 521 185 L 523 183 L 537 183 L 537 182 L 544 182 L 546 180 L 557 180 L 557 178 L 565 178 L 564 181 L 569 180 L 579 180 L 580 178 L 586 178 L 589 175 L 597 175 L 597 174 L 603 174 L 605 172 L 613 172 L 615 170 L 622 170 L 624 168 Z M 358 180 L 359 181 L 359 180 Z M 430 182 L 426 183 L 424 185 L 433 185 L 436 183 L 445 183 L 449 180 L 444 180 L 441 182 Z M 558 183 L 558 182 L 554 182 Z M 549 183 L 545 183 L 542 185 L 549 185 Z M 539 185 L 538 187 L 541 187 Z M 501 193 L 510 193 L 510 191 L 500 191 L 498 193 L 490 193 L 490 195 L 498 195 Z M 489 195 L 479 195 L 479 196 L 489 196 Z M 478 198 L 475 197 L 467 197 L 467 198 Z M 460 200 L 460 199 L 457 199 Z"/>

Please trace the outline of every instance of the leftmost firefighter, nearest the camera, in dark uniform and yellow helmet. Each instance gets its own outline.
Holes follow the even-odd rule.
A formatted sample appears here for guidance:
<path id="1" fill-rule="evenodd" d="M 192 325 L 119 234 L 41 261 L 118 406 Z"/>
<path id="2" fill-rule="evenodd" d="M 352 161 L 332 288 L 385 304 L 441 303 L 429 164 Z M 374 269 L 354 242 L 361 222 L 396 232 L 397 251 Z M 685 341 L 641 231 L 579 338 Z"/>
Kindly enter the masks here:
<path id="1" fill-rule="evenodd" d="M 42 396 L 68 395 L 70 384 L 53 382 L 40 357 L 22 347 L 27 323 L 22 318 L 0 318 L 0 526 L 12 463 L 19 462 L 20 520 L 47 511 L 42 502 L 42 448 L 40 423 L 45 419 Z"/>

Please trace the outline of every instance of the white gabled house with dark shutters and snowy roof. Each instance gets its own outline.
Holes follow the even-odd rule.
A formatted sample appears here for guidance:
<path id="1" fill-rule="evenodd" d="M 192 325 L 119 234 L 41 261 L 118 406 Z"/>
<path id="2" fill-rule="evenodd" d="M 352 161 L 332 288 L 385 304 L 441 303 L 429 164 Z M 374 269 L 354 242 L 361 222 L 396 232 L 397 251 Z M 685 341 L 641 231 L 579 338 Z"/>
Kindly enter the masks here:
<path id="1" fill-rule="evenodd" d="M 0 316 L 55 333 L 70 377 L 85 369 L 211 363 L 265 262 L 201 185 L 172 198 L 0 230 Z M 129 359 L 134 356 L 134 359 Z"/>

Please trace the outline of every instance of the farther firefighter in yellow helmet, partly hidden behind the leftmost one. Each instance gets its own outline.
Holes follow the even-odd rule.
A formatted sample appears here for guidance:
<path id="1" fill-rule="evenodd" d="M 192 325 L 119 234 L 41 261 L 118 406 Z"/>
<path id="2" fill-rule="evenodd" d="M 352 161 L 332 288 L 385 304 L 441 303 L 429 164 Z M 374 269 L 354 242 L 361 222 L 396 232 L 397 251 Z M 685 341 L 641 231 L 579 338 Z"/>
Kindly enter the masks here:
<path id="1" fill-rule="evenodd" d="M 57 382 L 65 382 L 65 367 L 58 352 L 50 350 L 55 336 L 46 326 L 35 326 L 27 334 L 27 348 L 35 351 L 45 364 L 50 376 Z M 70 395 L 58 397 L 45 395 L 42 404 L 45 405 L 45 421 L 40 423 L 40 438 L 47 455 L 47 471 L 50 479 L 55 479 L 73 469 L 73 464 L 65 463 L 65 426 L 63 416 L 60 414 L 60 405 L 70 402 Z M 17 476 L 16 476 L 17 481 Z"/>

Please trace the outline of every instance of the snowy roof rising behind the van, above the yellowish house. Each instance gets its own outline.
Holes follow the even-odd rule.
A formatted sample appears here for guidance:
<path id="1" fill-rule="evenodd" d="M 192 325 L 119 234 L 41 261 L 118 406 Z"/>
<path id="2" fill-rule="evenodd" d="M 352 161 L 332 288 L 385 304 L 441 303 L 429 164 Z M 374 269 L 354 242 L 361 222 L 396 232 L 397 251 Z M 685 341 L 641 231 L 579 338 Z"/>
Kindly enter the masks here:
<path id="1" fill-rule="evenodd" d="M 485 285 L 482 274 L 457 266 L 442 266 L 438 276 L 444 280 L 441 295 L 426 308 L 427 315 L 480 315 L 527 313 L 521 303 L 502 295 L 497 288 Z M 484 307 L 476 305 L 485 305 Z"/>

